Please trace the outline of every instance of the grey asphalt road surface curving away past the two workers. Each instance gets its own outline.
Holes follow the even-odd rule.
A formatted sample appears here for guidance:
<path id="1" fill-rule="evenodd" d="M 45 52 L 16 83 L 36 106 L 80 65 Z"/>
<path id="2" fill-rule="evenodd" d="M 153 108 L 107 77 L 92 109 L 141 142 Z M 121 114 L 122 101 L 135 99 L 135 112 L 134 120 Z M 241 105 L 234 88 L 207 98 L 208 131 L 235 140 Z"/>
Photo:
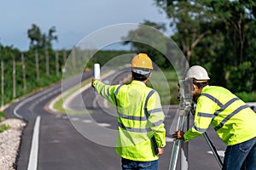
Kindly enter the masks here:
<path id="1" fill-rule="evenodd" d="M 85 76 L 84 78 L 88 77 Z M 119 79 L 119 77 L 122 77 L 122 75 L 115 76 L 108 82 L 114 83 L 114 80 Z M 114 107 L 106 105 L 105 101 L 98 97 L 92 88 L 88 88 L 83 92 L 82 100 L 74 98 L 69 106 L 74 110 L 81 110 L 85 107 L 92 111 L 90 115 L 67 116 L 52 113 L 52 111 L 45 109 L 49 101 L 55 99 L 59 94 L 61 94 L 61 83 L 46 88 L 37 94 L 27 96 L 5 110 L 7 116 L 19 116 L 20 118 L 22 116 L 22 119 L 27 122 L 21 139 L 17 169 L 27 169 L 33 127 L 38 116 L 41 117 L 38 170 L 121 169 L 120 158 L 113 147 L 115 139 L 112 136 L 109 138 L 108 135 L 108 133 L 111 133 L 111 135 L 115 133 L 117 128 Z M 81 107 L 81 105 L 84 105 L 84 107 Z M 164 106 L 164 111 L 166 114 L 167 137 L 171 137 L 169 129 L 172 126 L 177 107 Z M 192 125 L 192 121 L 191 118 L 190 125 Z M 91 124 L 97 127 L 94 128 Z M 225 149 L 224 144 L 218 139 L 212 128 L 208 130 L 208 134 L 217 150 Z M 169 167 L 172 144 L 172 142 L 166 143 L 165 153 L 160 156 L 160 170 L 166 170 Z M 207 153 L 209 150 L 202 136 L 191 140 L 189 142 L 189 169 L 220 169 L 215 158 Z M 177 169 L 179 167 L 178 161 Z"/>

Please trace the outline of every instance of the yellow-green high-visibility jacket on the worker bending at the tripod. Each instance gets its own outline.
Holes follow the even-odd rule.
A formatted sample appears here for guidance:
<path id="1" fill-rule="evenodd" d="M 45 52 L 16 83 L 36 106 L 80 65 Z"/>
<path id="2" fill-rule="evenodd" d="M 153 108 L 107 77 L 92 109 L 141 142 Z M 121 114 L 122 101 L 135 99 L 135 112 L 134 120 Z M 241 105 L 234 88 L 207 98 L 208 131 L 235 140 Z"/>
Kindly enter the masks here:
<path id="1" fill-rule="evenodd" d="M 202 88 L 194 125 L 184 134 L 185 141 L 205 133 L 210 124 L 226 145 L 240 144 L 256 137 L 256 114 L 225 88 Z"/>

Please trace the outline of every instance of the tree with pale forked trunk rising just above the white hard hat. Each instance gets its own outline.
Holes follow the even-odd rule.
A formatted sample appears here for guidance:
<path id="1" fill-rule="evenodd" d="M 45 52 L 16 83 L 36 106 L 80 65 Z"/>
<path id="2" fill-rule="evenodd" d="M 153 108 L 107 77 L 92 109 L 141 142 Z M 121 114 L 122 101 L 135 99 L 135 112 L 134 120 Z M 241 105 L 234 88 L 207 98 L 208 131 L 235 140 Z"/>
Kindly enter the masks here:
<path id="1" fill-rule="evenodd" d="M 209 25 L 213 20 L 212 11 L 207 10 L 204 0 L 173 1 L 155 0 L 160 10 L 172 20 L 172 37 L 181 47 L 190 62 L 191 55 L 199 42 L 211 33 Z"/>

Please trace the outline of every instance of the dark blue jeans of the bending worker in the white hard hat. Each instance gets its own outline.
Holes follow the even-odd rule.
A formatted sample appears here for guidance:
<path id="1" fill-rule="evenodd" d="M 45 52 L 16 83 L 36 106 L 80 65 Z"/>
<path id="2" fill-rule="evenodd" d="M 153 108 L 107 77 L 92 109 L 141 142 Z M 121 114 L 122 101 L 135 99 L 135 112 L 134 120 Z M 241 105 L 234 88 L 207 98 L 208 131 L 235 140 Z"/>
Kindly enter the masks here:
<path id="1" fill-rule="evenodd" d="M 256 138 L 230 145 L 225 150 L 223 170 L 241 169 L 256 169 Z"/>

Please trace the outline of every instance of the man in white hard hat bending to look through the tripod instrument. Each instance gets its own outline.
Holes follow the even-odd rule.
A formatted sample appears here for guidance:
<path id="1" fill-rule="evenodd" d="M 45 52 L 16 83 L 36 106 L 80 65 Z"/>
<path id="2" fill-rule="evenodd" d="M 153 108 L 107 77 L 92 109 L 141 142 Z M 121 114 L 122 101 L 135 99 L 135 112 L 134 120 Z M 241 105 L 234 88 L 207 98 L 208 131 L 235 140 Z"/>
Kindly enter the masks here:
<path id="1" fill-rule="evenodd" d="M 210 124 L 227 145 L 224 170 L 256 169 L 256 114 L 228 89 L 209 86 L 207 71 L 195 65 L 186 78 L 193 80 L 193 100 L 196 103 L 193 127 L 184 133 L 172 134 L 185 142 L 205 133 Z"/>

